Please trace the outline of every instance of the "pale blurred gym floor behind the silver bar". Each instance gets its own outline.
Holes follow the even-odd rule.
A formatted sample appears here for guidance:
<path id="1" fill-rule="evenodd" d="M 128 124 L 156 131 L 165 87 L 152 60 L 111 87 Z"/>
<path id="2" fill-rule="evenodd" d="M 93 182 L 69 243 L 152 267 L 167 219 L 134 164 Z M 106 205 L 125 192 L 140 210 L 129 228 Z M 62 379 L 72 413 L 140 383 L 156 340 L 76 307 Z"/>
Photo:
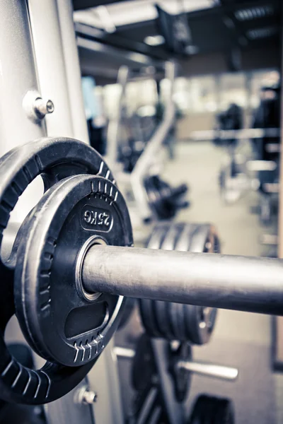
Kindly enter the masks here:
<path id="1" fill-rule="evenodd" d="M 275 233 L 275 225 L 263 228 L 256 214 L 257 194 L 248 194 L 236 204 L 226 206 L 219 196 L 217 176 L 224 151 L 207 142 L 179 142 L 175 160 L 168 162 L 163 176 L 172 182 L 190 186 L 190 208 L 181 211 L 178 220 L 214 223 L 221 238 L 221 252 L 267 256 L 262 247 L 262 233 Z M 231 270 L 233 272 L 233 270 Z M 271 317 L 219 310 L 212 340 L 207 346 L 195 347 L 196 360 L 238 367 L 236 382 L 207 377 L 192 378 L 190 404 L 201 393 L 233 399 L 236 424 L 283 423 L 281 400 L 283 375 L 272 372 Z"/>

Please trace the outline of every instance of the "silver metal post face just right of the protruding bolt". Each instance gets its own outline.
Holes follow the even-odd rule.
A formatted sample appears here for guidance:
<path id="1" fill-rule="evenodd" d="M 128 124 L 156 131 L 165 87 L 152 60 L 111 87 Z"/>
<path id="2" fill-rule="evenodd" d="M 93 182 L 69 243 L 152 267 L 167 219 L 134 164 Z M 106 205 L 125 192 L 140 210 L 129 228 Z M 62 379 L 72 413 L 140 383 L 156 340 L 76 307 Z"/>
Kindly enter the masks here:
<path id="1" fill-rule="evenodd" d="M 47 134 L 74 137 L 57 1 L 27 1 L 40 90 L 54 103 Z"/>

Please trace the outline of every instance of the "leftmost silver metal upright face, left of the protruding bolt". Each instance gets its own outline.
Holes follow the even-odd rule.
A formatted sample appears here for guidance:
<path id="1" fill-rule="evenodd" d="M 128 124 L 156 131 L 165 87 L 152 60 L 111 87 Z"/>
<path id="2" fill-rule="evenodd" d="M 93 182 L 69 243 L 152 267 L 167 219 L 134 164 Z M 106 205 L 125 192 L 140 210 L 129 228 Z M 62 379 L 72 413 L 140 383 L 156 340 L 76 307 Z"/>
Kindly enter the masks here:
<path id="1" fill-rule="evenodd" d="M 45 122 L 34 119 L 25 104 L 39 91 L 25 1 L 0 0 L 0 155 L 18 144 L 46 135 Z"/>

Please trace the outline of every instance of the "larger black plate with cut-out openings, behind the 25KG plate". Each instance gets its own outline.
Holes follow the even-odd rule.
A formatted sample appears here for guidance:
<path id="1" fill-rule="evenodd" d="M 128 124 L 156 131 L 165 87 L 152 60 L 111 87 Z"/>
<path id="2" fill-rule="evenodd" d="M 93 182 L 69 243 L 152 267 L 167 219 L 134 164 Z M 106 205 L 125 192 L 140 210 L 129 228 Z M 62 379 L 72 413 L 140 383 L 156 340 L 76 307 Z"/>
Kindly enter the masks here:
<path id="1" fill-rule="evenodd" d="M 11 211 L 28 184 L 42 175 L 45 188 L 67 175 L 90 172 L 112 181 L 103 159 L 85 143 L 66 138 L 45 138 L 26 143 L 0 160 L 0 244 Z M 0 246 L 1 247 L 1 246 Z M 8 352 L 4 331 L 15 312 L 13 269 L 0 260 L 0 394 L 6 401 L 44 404 L 63 396 L 83 379 L 91 365 L 74 370 L 47 363 L 41 370 L 29 370 Z M 53 382 L 56 382 L 54 384 Z"/>

